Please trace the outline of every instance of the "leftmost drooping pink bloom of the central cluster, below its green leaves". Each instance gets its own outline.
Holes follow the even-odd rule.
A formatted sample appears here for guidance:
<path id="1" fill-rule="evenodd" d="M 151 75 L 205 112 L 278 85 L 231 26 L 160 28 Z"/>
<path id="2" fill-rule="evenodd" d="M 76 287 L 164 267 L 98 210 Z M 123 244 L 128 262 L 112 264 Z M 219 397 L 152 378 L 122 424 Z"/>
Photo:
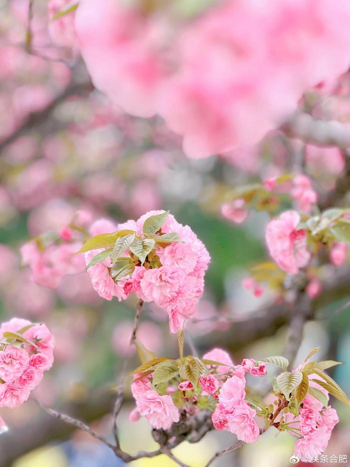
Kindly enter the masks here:
<path id="1" fill-rule="evenodd" d="M 101 251 L 103 251 L 103 249 L 99 248 L 85 253 L 86 265 L 89 264 L 91 259 Z M 98 295 L 106 300 L 111 300 L 113 297 L 117 297 L 118 301 L 124 300 L 126 298 L 126 294 L 123 289 L 123 283 L 114 282 L 113 278 L 109 274 L 108 268 L 110 266 L 111 261 L 108 257 L 87 269 L 91 278 L 92 286 Z"/>

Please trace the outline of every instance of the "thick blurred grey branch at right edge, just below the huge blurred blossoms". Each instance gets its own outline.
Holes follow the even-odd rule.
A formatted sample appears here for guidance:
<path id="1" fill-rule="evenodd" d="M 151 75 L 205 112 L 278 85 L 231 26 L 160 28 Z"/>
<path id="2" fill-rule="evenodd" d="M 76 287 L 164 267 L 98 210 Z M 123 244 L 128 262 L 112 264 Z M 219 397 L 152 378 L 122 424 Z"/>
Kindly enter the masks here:
<path id="1" fill-rule="evenodd" d="M 280 129 L 289 138 L 316 146 L 350 147 L 350 128 L 335 120 L 317 120 L 308 114 L 295 112 Z"/>

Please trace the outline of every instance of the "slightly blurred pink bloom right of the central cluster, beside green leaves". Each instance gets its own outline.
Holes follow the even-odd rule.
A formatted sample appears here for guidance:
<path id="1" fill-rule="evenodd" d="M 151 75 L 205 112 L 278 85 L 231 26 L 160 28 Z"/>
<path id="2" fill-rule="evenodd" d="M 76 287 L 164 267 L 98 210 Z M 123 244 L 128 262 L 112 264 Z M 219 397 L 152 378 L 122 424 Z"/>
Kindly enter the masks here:
<path id="1" fill-rule="evenodd" d="M 269 253 L 283 271 L 297 274 L 310 260 L 306 232 L 297 229 L 300 216 L 296 211 L 285 211 L 266 227 L 265 237 Z"/>

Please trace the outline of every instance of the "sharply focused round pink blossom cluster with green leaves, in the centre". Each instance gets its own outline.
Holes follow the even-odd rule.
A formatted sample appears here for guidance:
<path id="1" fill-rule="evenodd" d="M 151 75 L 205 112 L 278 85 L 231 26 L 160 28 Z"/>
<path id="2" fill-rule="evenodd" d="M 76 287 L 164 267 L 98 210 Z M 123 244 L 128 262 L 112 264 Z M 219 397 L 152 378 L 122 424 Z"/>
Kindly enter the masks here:
<path id="1" fill-rule="evenodd" d="M 101 232 L 102 225 L 96 221 L 91 230 Z M 203 243 L 164 211 L 150 211 L 137 221 L 118 224 L 114 232 L 110 229 L 88 240 L 81 250 L 86 251 L 93 288 L 106 300 L 124 300 L 134 292 L 167 311 L 171 332 L 181 329 L 195 314 L 203 292 L 210 260 Z"/>

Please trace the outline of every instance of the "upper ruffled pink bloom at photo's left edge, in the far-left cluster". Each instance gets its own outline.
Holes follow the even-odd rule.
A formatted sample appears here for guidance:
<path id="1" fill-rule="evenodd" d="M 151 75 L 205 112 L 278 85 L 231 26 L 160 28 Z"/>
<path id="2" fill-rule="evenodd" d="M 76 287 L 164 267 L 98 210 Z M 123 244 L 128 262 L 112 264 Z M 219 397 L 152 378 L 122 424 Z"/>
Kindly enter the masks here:
<path id="1" fill-rule="evenodd" d="M 7 345 L 0 351 L 0 378 L 6 382 L 13 382 L 20 376 L 29 362 L 28 353 L 22 348 Z"/>

